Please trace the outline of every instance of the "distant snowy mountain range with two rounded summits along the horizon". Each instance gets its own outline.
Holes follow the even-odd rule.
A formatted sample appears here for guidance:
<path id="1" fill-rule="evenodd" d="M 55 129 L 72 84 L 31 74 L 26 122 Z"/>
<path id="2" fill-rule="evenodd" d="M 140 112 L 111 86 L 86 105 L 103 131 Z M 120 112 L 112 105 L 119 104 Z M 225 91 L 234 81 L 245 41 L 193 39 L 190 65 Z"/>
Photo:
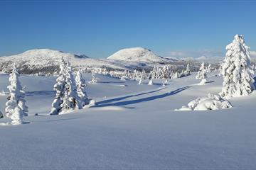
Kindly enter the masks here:
<path id="1" fill-rule="evenodd" d="M 107 59 L 94 59 L 87 57 L 87 55 L 76 55 L 58 50 L 35 49 L 18 55 L 0 57 L 0 71 L 10 72 L 11 66 L 16 64 L 22 74 L 56 74 L 62 57 L 68 60 L 75 69 L 89 70 L 99 68 L 110 70 L 150 69 L 154 66 L 163 67 L 168 64 L 175 71 L 185 68 L 188 62 L 191 63 L 191 67 L 193 67 L 191 69 L 193 70 L 199 67 L 199 62 L 203 61 L 176 59 L 174 57 L 165 58 L 143 47 L 119 50 Z"/>

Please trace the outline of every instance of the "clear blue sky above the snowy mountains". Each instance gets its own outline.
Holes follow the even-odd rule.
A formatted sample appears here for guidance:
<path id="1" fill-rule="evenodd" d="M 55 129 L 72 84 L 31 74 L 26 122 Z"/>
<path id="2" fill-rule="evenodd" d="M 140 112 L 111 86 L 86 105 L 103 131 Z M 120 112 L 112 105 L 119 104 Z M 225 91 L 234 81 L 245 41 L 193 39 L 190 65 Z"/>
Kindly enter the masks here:
<path id="1" fill-rule="evenodd" d="M 256 1 L 0 1 L 0 56 L 50 48 L 107 57 L 221 55 L 235 34 L 256 50 Z M 191 56 L 189 56 L 191 55 Z"/>

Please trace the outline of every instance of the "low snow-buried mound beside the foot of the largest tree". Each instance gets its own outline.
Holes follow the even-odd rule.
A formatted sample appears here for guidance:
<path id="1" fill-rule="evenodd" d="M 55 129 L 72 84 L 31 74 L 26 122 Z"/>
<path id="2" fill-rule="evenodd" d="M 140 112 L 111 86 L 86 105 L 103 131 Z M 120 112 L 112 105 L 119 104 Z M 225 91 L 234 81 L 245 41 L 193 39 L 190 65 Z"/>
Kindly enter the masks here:
<path id="1" fill-rule="evenodd" d="M 219 95 L 208 94 L 208 96 L 196 98 L 188 103 L 188 106 L 182 106 L 175 111 L 206 111 L 206 110 L 218 110 L 223 108 L 232 108 L 229 101 L 225 101 Z"/>

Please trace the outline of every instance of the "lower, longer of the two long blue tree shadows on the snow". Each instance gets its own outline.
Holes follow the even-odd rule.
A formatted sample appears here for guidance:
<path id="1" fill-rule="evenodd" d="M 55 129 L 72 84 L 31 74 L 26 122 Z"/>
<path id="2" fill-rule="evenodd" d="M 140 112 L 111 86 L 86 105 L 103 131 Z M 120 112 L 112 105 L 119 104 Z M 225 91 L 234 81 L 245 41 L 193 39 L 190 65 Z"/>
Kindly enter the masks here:
<path id="1" fill-rule="evenodd" d="M 142 102 L 146 102 L 146 101 L 153 101 L 153 100 L 156 100 L 158 98 L 165 98 L 167 96 L 172 96 L 174 94 L 178 94 L 181 91 L 184 91 L 184 90 L 188 89 L 189 87 L 190 86 L 184 86 L 184 87 L 181 87 L 179 89 L 176 89 L 174 91 L 171 91 L 171 92 L 165 93 L 165 94 L 160 94 L 160 95 L 156 95 L 156 96 L 150 96 L 150 97 L 146 97 L 146 98 L 139 98 L 139 99 L 132 100 L 132 101 L 120 101 L 120 102 L 116 102 L 116 103 L 106 103 L 106 104 L 96 105 L 94 107 L 126 106 L 126 105 L 130 105 L 130 104 L 135 104 L 135 103 L 142 103 Z"/>

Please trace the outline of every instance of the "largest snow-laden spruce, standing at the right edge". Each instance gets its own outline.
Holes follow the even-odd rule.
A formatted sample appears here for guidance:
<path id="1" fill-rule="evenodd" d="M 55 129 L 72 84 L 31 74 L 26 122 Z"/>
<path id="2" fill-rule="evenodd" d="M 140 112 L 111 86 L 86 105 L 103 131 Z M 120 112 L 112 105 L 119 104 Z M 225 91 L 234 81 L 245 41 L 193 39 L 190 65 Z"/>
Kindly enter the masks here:
<path id="1" fill-rule="evenodd" d="M 255 90 L 249 49 L 242 35 L 235 35 L 233 42 L 227 45 L 221 70 L 223 75 L 221 96 L 225 98 L 247 96 Z"/>

